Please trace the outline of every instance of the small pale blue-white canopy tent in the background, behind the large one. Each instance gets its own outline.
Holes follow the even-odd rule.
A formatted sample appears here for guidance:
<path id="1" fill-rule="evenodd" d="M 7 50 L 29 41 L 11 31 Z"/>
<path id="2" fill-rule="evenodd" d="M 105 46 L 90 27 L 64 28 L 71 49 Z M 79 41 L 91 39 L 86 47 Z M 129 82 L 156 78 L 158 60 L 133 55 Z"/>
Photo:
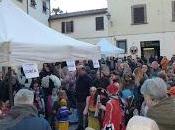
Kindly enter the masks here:
<path id="1" fill-rule="evenodd" d="M 101 48 L 101 55 L 116 56 L 118 54 L 124 53 L 123 49 L 116 47 L 105 38 L 101 39 L 100 42 L 97 43 L 97 45 Z"/>

